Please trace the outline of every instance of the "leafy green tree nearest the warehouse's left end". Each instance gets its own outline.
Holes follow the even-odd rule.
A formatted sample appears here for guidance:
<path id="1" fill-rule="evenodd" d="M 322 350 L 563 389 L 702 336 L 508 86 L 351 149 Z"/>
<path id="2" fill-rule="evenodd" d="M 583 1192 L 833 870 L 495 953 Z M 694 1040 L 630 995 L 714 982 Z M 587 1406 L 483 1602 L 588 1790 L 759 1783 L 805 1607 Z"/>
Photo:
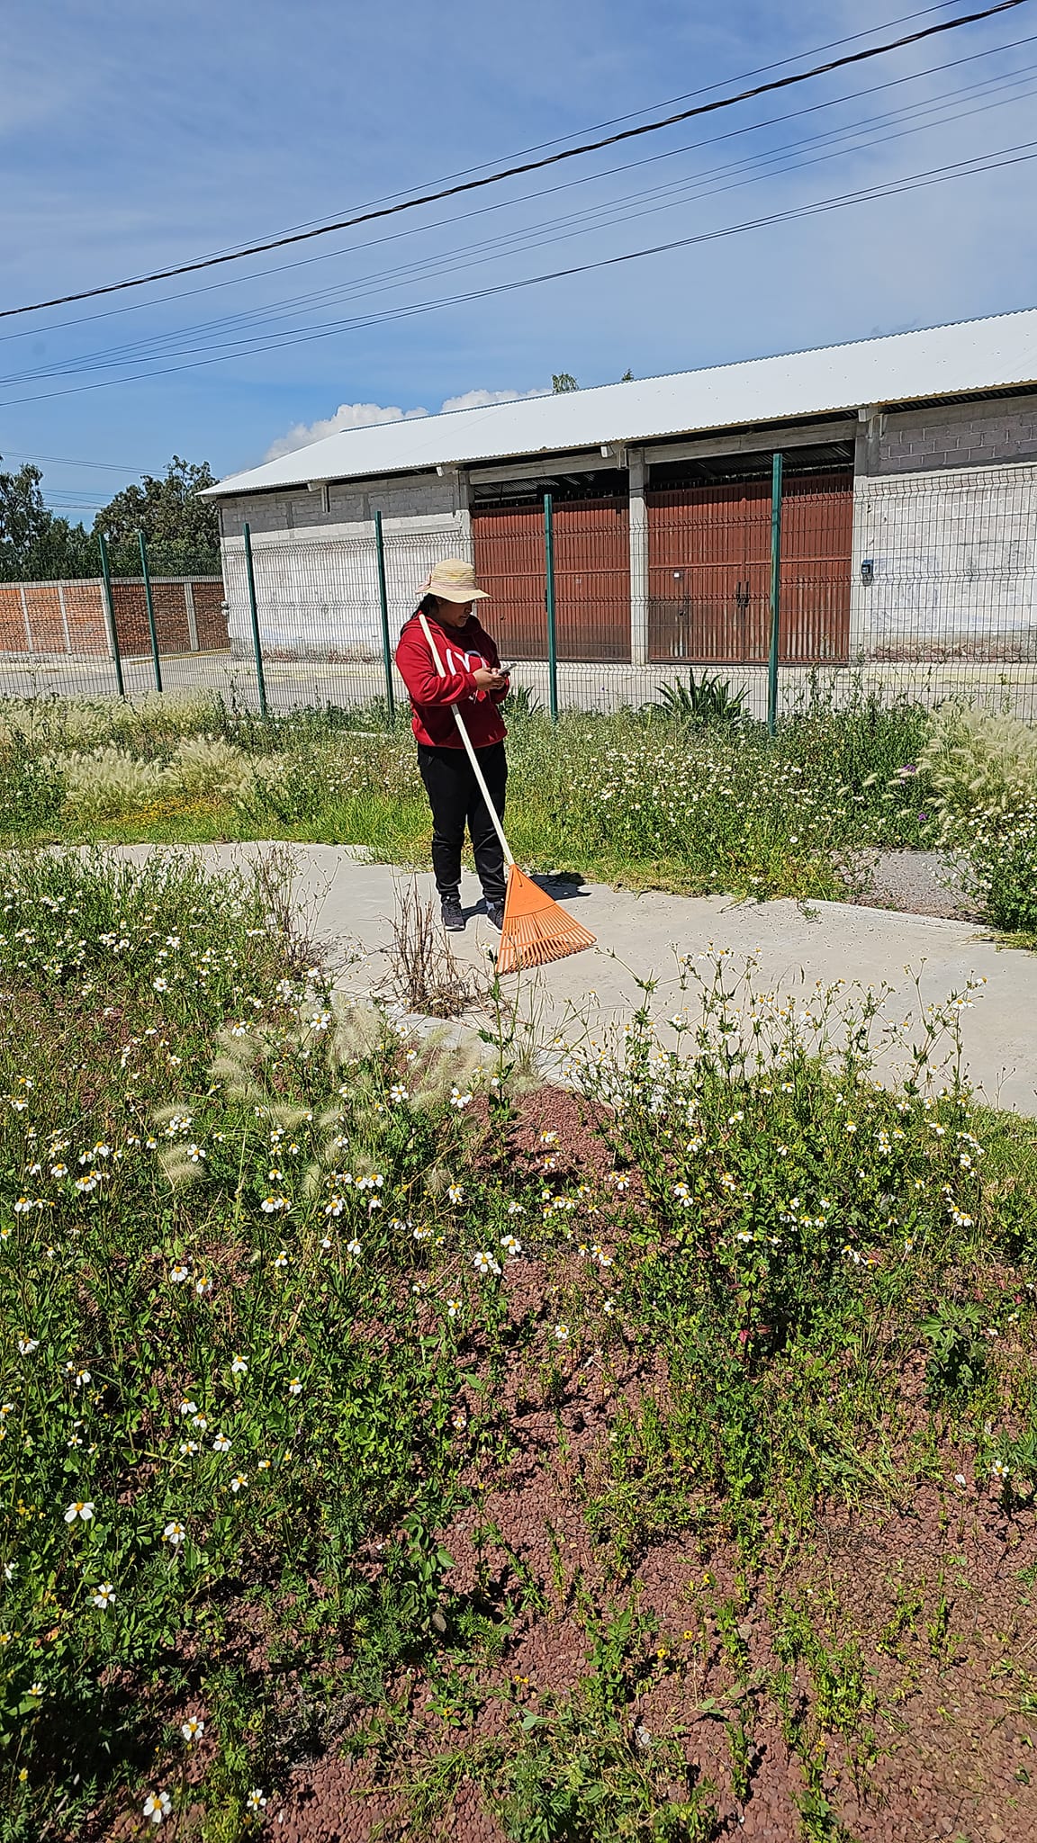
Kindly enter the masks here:
<path id="1" fill-rule="evenodd" d="M 124 487 L 94 518 L 94 533 L 103 531 L 120 568 L 129 562 L 137 533 L 148 538 L 151 562 L 161 569 L 220 571 L 220 512 L 212 499 L 201 499 L 216 477 L 209 461 L 183 461 L 173 455 L 162 477 L 144 475 L 144 483 Z M 140 568 L 140 560 L 137 562 Z"/>

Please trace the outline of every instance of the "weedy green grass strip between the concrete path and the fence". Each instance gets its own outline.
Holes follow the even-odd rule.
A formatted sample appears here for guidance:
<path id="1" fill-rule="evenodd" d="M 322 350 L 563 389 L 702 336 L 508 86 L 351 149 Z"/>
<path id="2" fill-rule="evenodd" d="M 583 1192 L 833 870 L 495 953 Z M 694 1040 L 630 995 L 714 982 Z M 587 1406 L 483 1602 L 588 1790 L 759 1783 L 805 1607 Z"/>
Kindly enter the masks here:
<path id="1" fill-rule="evenodd" d="M 552 726 L 518 708 L 511 722 L 507 824 L 533 870 L 637 888 L 840 898 L 847 853 L 928 839 L 924 787 L 897 780 L 924 737 L 917 706 L 817 700 L 784 719 L 775 741 L 762 724 L 699 724 L 661 710 Z M 44 704 L 11 706 L 6 726 L 0 831 L 11 839 L 290 839 L 428 861 L 413 741 L 375 708 L 260 722 L 216 700 Z M 192 735 L 214 739 L 225 761 L 185 781 L 177 750 Z M 83 763 L 90 750 L 109 756 Z"/>

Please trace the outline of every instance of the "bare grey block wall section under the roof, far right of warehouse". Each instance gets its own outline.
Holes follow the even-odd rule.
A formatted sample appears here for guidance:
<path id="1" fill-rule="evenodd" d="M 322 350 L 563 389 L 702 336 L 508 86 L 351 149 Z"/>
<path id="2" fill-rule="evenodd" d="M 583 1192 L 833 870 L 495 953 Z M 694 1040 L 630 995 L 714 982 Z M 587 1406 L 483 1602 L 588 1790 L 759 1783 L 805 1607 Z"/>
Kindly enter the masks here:
<path id="1" fill-rule="evenodd" d="M 1037 394 L 889 411 L 860 442 L 858 474 L 928 474 L 998 461 L 1037 461 Z"/>

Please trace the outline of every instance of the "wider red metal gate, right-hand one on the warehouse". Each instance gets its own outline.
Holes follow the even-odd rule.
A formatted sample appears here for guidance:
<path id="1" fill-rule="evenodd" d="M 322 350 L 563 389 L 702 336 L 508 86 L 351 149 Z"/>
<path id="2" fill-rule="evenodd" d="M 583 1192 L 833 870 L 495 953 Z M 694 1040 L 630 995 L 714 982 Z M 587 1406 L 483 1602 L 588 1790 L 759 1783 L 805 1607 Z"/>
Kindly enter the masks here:
<path id="1" fill-rule="evenodd" d="M 768 658 L 769 479 L 648 492 L 648 654 L 751 663 Z M 852 472 L 786 477 L 781 658 L 849 652 Z"/>

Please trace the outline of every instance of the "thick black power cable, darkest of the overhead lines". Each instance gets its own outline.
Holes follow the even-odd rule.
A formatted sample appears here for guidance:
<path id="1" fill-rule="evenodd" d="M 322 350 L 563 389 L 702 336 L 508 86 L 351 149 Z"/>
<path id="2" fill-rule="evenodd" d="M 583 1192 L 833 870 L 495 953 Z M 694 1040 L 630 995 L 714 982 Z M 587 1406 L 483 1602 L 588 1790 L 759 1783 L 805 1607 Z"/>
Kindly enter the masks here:
<path id="1" fill-rule="evenodd" d="M 456 197 L 461 192 L 476 192 L 482 186 L 495 186 L 500 184 L 500 181 L 515 179 L 520 173 L 533 173 L 544 166 L 557 166 L 561 160 L 576 160 L 585 153 L 598 153 L 602 147 L 614 147 L 622 140 L 635 140 L 640 135 L 655 135 L 662 127 L 673 127 L 677 122 L 690 122 L 694 116 L 714 114 L 718 109 L 733 109 L 736 103 L 751 101 L 757 96 L 784 90 L 795 83 L 806 83 L 810 77 L 821 77 L 832 70 L 843 70 L 847 65 L 860 65 L 871 57 L 882 57 L 886 52 L 899 52 L 908 44 L 919 44 L 923 39 L 932 39 L 937 33 L 956 31 L 960 26 L 974 26 L 978 20 L 993 18 L 998 13 L 1009 13 L 1013 7 L 1024 4 L 1026 0 L 996 0 L 995 6 L 987 6 L 980 13 L 960 13 L 956 18 L 937 20 L 934 26 L 923 26 L 919 31 L 906 33 L 900 39 L 889 39 L 886 44 L 875 44 L 862 52 L 849 52 L 845 57 L 832 57 L 825 65 L 814 65 L 810 70 L 799 70 L 788 77 L 775 77 L 769 83 L 758 83 L 753 88 L 738 90 L 734 96 L 718 96 L 710 103 L 699 103 L 696 109 L 681 109 L 675 114 L 661 116 L 655 122 L 642 122 L 638 127 L 620 129 L 616 135 L 605 135 L 602 140 L 581 142 L 579 147 L 566 147 L 563 153 L 552 153 L 542 160 L 526 160 L 518 166 L 506 166 L 482 179 L 467 179 L 461 184 L 445 186 L 439 192 L 426 192 L 419 197 L 406 199 L 400 205 L 386 205 L 378 210 L 360 212 L 354 217 L 341 217 L 314 230 L 295 230 L 290 236 L 271 238 L 266 243 L 247 243 L 236 251 L 205 256 L 197 262 L 177 264 L 170 269 L 153 269 L 149 275 L 131 276 L 125 282 L 107 282 L 101 288 L 85 288 L 72 295 L 55 295 L 52 300 L 35 300 L 20 308 L 2 308 L 0 319 L 11 319 L 20 313 L 37 313 L 42 308 L 61 308 L 72 300 L 94 300 L 98 295 L 114 295 L 125 288 L 144 288 L 148 282 L 166 282 L 175 275 L 194 275 L 199 269 L 214 269 L 227 262 L 242 262 L 245 256 L 262 256 L 266 251 L 284 249 L 290 243 L 306 243 L 317 236 L 330 236 L 334 230 L 349 230 L 354 225 L 371 223 L 376 217 L 393 217 L 399 212 L 410 212 L 421 205 L 434 205 L 439 199 Z"/>

